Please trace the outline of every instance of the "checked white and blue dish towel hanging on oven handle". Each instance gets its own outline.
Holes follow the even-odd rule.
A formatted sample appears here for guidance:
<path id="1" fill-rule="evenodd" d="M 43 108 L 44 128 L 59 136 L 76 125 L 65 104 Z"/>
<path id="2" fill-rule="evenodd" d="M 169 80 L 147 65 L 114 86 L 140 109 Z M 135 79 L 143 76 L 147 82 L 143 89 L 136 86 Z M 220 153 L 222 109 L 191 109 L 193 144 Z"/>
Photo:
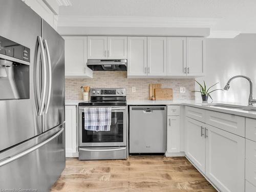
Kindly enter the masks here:
<path id="1" fill-rule="evenodd" d="M 110 131 L 111 108 L 84 108 L 84 129 Z"/>

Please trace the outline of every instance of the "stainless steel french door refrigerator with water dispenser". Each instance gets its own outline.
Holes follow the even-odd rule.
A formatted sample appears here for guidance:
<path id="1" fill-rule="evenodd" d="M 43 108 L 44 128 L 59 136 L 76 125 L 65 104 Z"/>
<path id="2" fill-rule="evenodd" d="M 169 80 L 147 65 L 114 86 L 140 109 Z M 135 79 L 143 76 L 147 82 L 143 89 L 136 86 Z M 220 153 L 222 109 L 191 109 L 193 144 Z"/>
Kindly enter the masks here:
<path id="1" fill-rule="evenodd" d="M 64 64 L 62 37 L 0 0 L 0 189 L 49 191 L 65 168 Z"/>

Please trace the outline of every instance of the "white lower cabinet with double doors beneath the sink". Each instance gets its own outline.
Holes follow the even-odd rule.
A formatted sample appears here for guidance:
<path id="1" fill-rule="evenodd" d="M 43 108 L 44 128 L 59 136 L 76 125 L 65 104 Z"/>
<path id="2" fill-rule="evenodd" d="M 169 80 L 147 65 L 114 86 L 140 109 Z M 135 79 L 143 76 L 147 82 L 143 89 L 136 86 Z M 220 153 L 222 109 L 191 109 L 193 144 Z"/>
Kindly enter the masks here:
<path id="1" fill-rule="evenodd" d="M 256 175 L 256 166 L 253 169 L 248 163 L 250 168 L 246 168 L 247 174 L 245 171 L 245 138 L 228 132 L 231 123 L 236 130 L 244 130 L 244 119 L 234 115 L 229 118 L 228 114 L 222 116 L 223 113 L 215 112 L 214 116 L 219 118 L 215 118 L 214 121 L 212 116 L 212 121 L 209 121 L 208 116 L 211 114 L 209 110 L 202 110 L 202 113 L 191 107 L 186 107 L 185 110 L 185 154 L 204 176 L 221 192 L 244 192 L 246 175 L 247 181 L 253 184 L 255 180 L 256 184 L 256 179 L 253 179 Z M 198 115 L 191 115 L 189 113 L 191 111 L 197 111 L 193 114 Z M 198 118 L 201 117 L 201 114 L 206 114 L 206 118 Z M 202 122 L 188 116 L 198 118 Z M 223 125 L 217 123 L 224 118 L 226 118 L 226 123 Z M 241 121 L 235 121 L 236 119 L 241 119 Z M 215 123 L 216 126 L 211 126 L 208 123 Z M 253 151 L 252 149 L 253 147 L 248 147 L 248 151 Z M 253 155 L 247 154 L 247 156 L 252 157 Z"/>

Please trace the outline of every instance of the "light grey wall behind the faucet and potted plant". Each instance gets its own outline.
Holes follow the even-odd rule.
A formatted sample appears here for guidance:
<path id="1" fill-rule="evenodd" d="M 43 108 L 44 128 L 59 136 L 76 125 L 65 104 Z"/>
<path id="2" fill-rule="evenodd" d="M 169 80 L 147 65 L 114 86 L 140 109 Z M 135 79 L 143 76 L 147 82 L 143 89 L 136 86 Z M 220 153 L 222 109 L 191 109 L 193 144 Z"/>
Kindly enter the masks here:
<path id="1" fill-rule="evenodd" d="M 205 77 L 197 78 L 200 82 L 205 80 L 209 85 L 220 82 L 216 88 L 224 88 L 230 77 L 246 75 L 252 79 L 256 90 L 256 34 L 241 34 L 234 39 L 206 39 L 205 69 Z M 215 102 L 247 103 L 249 83 L 244 78 L 234 79 L 229 91 L 218 91 L 211 96 Z M 200 97 L 197 93 L 196 99 Z"/>

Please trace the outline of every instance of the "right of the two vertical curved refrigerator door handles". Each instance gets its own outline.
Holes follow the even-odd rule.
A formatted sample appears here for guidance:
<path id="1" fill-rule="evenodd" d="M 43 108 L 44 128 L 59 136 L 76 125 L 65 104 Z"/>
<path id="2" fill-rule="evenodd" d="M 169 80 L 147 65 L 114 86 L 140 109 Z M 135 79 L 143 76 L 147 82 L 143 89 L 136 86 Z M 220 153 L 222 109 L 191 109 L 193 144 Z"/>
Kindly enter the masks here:
<path id="1" fill-rule="evenodd" d="M 45 107 L 45 114 L 48 113 L 50 100 L 51 100 L 51 91 L 52 91 L 52 64 L 51 64 L 51 57 L 49 52 L 49 47 L 47 44 L 47 40 L 44 39 L 44 45 L 46 47 L 46 54 L 47 54 L 47 60 L 48 60 L 48 94 L 47 94 L 47 101 L 46 101 L 46 107 Z"/>

